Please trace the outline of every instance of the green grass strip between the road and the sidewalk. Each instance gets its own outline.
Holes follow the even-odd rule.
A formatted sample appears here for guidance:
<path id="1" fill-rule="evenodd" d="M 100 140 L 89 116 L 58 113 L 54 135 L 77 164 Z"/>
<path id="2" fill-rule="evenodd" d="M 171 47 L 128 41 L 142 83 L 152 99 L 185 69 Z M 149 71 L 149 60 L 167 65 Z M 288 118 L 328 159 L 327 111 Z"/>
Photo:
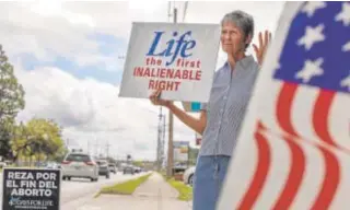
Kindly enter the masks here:
<path id="1" fill-rule="evenodd" d="M 95 196 L 98 197 L 101 194 L 112 194 L 112 195 L 131 195 L 142 183 L 144 183 L 152 174 L 141 176 L 125 183 L 119 183 L 113 186 L 107 186 L 101 189 L 101 191 Z"/>

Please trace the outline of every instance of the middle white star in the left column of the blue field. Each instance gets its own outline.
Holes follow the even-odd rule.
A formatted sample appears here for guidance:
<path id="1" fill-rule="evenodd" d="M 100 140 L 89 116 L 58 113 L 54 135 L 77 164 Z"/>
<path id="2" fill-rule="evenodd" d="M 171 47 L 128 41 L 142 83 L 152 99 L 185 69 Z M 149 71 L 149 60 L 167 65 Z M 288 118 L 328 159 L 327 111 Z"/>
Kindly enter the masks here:
<path id="1" fill-rule="evenodd" d="M 306 50 L 310 50 L 317 42 L 325 40 L 324 31 L 325 25 L 319 24 L 316 27 L 306 26 L 305 34 L 298 40 L 298 45 L 304 45 Z"/>

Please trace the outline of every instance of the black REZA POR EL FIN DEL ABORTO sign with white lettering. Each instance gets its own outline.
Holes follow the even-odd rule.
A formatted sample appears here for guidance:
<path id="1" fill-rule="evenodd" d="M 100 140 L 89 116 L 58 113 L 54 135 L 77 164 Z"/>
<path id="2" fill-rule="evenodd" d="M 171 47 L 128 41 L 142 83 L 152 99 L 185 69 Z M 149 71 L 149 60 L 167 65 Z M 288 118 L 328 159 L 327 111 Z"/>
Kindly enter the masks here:
<path id="1" fill-rule="evenodd" d="M 4 168 L 2 209 L 60 209 L 60 171 Z"/>

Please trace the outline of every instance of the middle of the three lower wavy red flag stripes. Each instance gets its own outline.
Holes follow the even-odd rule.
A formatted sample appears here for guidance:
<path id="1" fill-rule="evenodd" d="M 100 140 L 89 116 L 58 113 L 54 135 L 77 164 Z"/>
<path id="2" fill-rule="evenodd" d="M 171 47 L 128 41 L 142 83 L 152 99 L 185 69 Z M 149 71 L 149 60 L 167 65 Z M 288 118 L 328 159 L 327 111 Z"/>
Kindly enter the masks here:
<path id="1" fill-rule="evenodd" d="M 273 210 L 289 209 L 289 206 L 295 199 L 305 172 L 306 158 L 302 148 L 289 137 L 284 137 L 284 140 L 291 150 L 291 170 L 289 172 L 284 188 L 272 208 Z"/>

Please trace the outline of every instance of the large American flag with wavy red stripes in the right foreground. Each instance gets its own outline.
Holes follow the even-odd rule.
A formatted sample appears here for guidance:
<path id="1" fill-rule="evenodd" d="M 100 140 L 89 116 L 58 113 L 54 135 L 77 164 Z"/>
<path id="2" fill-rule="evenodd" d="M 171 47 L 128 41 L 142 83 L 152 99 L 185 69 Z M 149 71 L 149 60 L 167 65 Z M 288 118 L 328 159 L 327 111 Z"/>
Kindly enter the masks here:
<path id="1" fill-rule="evenodd" d="M 350 209 L 350 2 L 285 9 L 219 210 Z"/>

